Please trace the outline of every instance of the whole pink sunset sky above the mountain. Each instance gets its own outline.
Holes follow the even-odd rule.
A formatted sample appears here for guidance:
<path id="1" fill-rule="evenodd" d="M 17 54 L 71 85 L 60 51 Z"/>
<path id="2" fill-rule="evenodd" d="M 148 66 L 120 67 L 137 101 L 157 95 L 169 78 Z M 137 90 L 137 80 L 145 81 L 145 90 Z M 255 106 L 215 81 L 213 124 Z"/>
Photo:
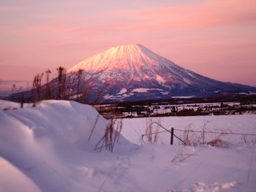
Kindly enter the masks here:
<path id="1" fill-rule="evenodd" d="M 0 1 L 0 79 L 32 80 L 139 43 L 179 66 L 256 86 L 256 1 Z"/>

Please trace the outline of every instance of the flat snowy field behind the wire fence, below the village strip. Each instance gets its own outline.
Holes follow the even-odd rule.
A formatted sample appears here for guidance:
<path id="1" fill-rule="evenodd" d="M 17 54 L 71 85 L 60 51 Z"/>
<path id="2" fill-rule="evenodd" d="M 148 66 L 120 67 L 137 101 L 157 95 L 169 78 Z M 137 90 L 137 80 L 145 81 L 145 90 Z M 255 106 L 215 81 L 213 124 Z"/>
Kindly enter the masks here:
<path id="1" fill-rule="evenodd" d="M 170 144 L 170 133 L 157 125 L 159 123 L 167 130 L 174 128 L 174 134 L 181 139 L 186 139 L 198 145 L 209 142 L 212 139 L 222 139 L 230 142 L 230 145 L 239 145 L 245 142 L 256 142 L 256 115 L 207 115 L 190 117 L 165 117 L 165 118 L 126 118 L 123 119 L 123 130 L 121 134 L 130 142 L 140 145 L 141 135 L 146 134 L 146 129 L 151 125 L 152 132 L 157 134 L 158 144 Z M 180 131 L 184 130 L 184 131 Z M 164 131 L 164 132 L 162 132 Z M 204 131 L 200 133 L 197 131 Z M 155 137 L 156 134 L 152 134 Z M 204 139 L 203 139 L 204 137 Z M 143 144 L 146 143 L 143 137 Z M 174 139 L 174 144 L 181 144 Z"/>

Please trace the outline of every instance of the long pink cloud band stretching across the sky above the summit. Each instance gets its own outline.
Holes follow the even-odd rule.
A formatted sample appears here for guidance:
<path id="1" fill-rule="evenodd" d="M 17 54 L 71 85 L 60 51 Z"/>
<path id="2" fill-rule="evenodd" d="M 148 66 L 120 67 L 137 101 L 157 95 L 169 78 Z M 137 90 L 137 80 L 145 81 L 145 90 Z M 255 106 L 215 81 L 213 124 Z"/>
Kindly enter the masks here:
<path id="1" fill-rule="evenodd" d="M 121 10 L 105 15 L 86 18 L 82 15 L 62 14 L 46 16 L 42 23 L 23 23 L 12 26 L 10 31 L 23 36 L 57 37 L 57 39 L 80 39 L 129 31 L 150 33 L 150 31 L 174 30 L 179 28 L 208 28 L 255 21 L 255 3 L 223 3 L 206 1 L 203 4 L 159 7 L 140 10 Z M 227 11 L 228 10 L 228 11 Z M 48 21 L 47 21 L 48 20 Z"/>

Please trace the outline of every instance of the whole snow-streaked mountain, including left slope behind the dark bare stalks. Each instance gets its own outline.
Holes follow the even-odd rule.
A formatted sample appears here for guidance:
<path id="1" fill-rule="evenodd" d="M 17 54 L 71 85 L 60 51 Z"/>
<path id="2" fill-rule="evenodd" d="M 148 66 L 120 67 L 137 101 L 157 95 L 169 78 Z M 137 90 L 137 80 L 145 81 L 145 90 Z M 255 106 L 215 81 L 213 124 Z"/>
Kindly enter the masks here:
<path id="1" fill-rule="evenodd" d="M 138 44 L 112 47 L 86 58 L 67 74 L 23 92 L 26 101 L 72 99 L 90 104 L 227 95 L 235 98 L 239 94 L 254 95 L 256 88 L 205 77 Z M 12 99 L 19 100 L 20 93 L 13 94 Z"/>

